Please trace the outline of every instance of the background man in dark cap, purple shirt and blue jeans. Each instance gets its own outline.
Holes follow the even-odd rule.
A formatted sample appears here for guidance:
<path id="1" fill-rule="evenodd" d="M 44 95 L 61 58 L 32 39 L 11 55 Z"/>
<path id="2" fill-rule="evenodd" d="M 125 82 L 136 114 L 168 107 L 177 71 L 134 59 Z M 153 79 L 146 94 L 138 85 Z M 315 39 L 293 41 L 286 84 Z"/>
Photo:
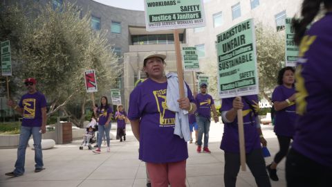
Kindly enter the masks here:
<path id="1" fill-rule="evenodd" d="M 216 107 L 214 107 L 214 100 L 210 96 L 206 89 L 207 84 L 202 83 L 200 86 L 201 93 L 196 95 L 196 106 L 197 106 L 197 116 L 196 122 L 199 125 L 199 137 L 197 139 L 197 152 L 201 152 L 202 148 L 202 138 L 204 134 L 204 147 L 203 152 L 211 153 L 208 148 L 209 143 L 209 132 L 210 132 L 210 122 L 211 122 L 211 109 L 213 112 L 214 122 L 218 122 L 219 118 L 216 114 Z"/>

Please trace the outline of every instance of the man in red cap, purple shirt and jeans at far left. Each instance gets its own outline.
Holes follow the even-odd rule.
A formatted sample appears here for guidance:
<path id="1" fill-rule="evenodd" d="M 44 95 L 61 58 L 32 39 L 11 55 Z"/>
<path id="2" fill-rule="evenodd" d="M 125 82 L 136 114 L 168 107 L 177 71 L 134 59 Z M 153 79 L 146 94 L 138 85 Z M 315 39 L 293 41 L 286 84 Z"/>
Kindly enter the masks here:
<path id="1" fill-rule="evenodd" d="M 44 170 L 42 154 L 42 134 L 46 132 L 46 98 L 37 91 L 35 78 L 27 78 L 24 81 L 28 94 L 22 96 L 19 105 L 8 100 L 7 105 L 23 116 L 21 131 L 19 134 L 19 148 L 17 148 L 17 160 L 15 170 L 5 175 L 18 177 L 24 174 L 24 162 L 26 160 L 26 145 L 33 134 L 33 146 L 35 148 L 35 172 Z"/>

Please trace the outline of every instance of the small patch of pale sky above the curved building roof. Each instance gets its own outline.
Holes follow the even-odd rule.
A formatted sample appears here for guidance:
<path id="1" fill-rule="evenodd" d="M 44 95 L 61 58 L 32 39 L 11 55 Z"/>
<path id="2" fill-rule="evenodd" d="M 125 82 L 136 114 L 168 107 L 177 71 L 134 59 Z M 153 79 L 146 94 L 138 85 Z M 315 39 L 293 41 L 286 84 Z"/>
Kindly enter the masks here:
<path id="1" fill-rule="evenodd" d="M 144 0 L 93 0 L 108 6 L 129 10 L 144 10 Z"/>

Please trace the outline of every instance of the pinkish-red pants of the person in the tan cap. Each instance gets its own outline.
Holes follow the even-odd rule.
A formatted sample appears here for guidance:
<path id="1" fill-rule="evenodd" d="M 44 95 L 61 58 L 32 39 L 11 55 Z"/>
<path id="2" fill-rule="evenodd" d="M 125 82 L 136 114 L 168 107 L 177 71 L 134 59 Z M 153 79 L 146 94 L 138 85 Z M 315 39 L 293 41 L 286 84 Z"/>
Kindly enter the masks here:
<path id="1" fill-rule="evenodd" d="M 184 161 L 169 163 L 147 163 L 147 170 L 153 187 L 185 187 Z"/>

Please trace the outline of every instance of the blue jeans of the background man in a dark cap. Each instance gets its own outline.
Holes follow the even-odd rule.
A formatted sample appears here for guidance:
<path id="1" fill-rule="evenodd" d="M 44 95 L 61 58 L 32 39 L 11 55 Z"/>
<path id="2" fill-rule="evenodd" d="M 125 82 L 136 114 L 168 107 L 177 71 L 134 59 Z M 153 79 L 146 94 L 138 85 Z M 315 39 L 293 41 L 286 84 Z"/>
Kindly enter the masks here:
<path id="1" fill-rule="evenodd" d="M 208 147 L 210 118 L 205 118 L 203 116 L 196 116 L 196 122 L 199 125 L 199 137 L 197 139 L 197 144 L 202 145 L 202 138 L 204 133 L 204 147 Z"/>

